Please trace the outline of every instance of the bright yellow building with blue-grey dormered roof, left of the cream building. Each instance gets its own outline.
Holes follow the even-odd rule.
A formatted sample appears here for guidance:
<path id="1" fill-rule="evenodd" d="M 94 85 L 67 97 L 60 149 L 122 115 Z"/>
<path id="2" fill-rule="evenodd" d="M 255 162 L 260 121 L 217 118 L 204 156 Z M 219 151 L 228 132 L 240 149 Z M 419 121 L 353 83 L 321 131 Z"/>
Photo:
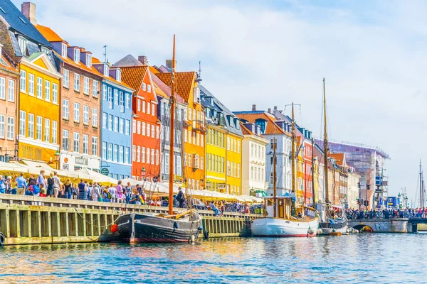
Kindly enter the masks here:
<path id="1" fill-rule="evenodd" d="M 209 190 L 242 194 L 242 141 L 240 120 L 199 84 L 201 104 L 205 109 L 206 183 Z"/>

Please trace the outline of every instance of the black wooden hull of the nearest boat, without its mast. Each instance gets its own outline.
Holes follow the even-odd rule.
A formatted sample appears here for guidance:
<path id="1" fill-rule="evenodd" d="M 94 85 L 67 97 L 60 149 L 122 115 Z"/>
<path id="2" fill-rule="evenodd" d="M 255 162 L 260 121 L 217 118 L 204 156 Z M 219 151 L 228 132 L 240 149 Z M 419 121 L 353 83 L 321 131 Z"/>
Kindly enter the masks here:
<path id="1" fill-rule="evenodd" d="M 154 214 L 125 214 L 117 220 L 117 230 L 123 241 L 130 243 L 147 242 L 188 242 L 199 236 L 201 218 L 193 214 L 193 220 L 169 219 Z"/>

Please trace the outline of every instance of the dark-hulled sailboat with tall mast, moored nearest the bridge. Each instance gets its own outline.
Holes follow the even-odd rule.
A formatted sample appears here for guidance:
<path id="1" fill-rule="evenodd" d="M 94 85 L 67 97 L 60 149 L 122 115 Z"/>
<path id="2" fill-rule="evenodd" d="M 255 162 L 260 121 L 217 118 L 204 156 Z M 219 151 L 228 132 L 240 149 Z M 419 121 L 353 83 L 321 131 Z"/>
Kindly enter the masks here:
<path id="1" fill-rule="evenodd" d="M 320 229 L 322 229 L 322 234 L 329 235 L 330 233 L 345 233 L 347 232 L 347 218 L 344 216 L 344 209 L 342 206 L 336 206 L 330 204 L 329 200 L 329 187 L 328 187 L 328 148 L 327 148 L 327 119 L 326 119 L 326 92 L 325 92 L 325 78 L 323 78 L 323 112 L 325 119 L 325 133 L 323 147 L 325 151 L 324 162 L 325 162 L 325 192 L 326 192 L 326 220 L 325 222 L 320 222 Z"/>

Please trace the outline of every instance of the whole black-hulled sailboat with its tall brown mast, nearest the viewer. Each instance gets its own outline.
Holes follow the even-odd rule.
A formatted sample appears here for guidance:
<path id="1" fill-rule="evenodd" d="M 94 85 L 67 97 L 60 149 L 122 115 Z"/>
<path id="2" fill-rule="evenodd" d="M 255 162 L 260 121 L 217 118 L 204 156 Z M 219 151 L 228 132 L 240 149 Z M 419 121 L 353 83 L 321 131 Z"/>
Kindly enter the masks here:
<path id="1" fill-rule="evenodd" d="M 172 55 L 171 111 L 170 111 L 170 153 L 169 155 L 169 208 L 163 213 L 131 213 L 117 219 L 117 231 L 123 241 L 139 242 L 194 242 L 201 231 L 201 217 L 195 209 L 174 212 L 174 116 L 175 98 L 175 35 Z M 191 203 L 189 203 L 191 204 Z"/>

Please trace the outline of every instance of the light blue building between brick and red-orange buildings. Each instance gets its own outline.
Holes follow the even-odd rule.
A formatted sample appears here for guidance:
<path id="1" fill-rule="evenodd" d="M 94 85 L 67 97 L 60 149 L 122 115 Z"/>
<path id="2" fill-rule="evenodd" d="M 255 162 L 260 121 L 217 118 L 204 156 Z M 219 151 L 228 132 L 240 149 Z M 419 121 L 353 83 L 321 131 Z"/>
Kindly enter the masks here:
<path id="1" fill-rule="evenodd" d="M 104 76 L 101 82 L 101 173 L 116 180 L 130 178 L 132 171 L 132 93 L 122 82 L 122 70 L 93 58 L 93 66 Z"/>

